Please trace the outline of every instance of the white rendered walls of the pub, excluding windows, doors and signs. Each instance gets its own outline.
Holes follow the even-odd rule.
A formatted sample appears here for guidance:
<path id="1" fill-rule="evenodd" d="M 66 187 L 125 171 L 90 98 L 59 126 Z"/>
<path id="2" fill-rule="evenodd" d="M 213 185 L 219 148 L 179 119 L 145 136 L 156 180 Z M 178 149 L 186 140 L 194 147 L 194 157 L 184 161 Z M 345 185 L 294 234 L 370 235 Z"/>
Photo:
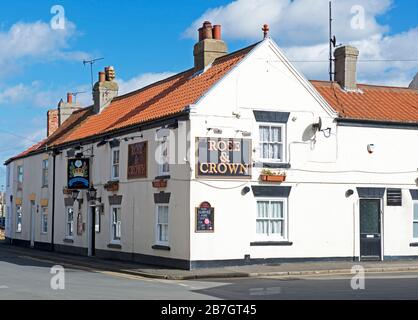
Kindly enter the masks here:
<path id="1" fill-rule="evenodd" d="M 367 106 L 365 106 L 367 107 Z M 287 259 L 287 258 L 358 258 L 359 197 L 357 187 L 401 188 L 402 207 L 388 207 L 386 197 L 382 202 L 382 257 L 418 256 L 418 248 L 410 244 L 413 238 L 413 201 L 410 189 L 418 189 L 418 130 L 373 127 L 340 126 L 338 115 L 319 95 L 314 87 L 297 72 L 284 57 L 277 45 L 266 39 L 221 81 L 219 81 L 195 105 L 190 106 L 190 120 L 180 121 L 170 138 L 171 146 L 178 150 L 176 164 L 171 165 L 168 187 L 171 193 L 169 208 L 170 251 L 155 250 L 156 206 L 153 195 L 159 190 L 151 182 L 158 176 L 154 154 L 158 143 L 158 128 L 118 136 L 120 144 L 120 189 L 122 200 L 121 249 L 108 248 L 110 243 L 110 206 L 108 196 L 112 192 L 103 185 L 110 180 L 110 146 L 83 145 L 93 148 L 92 184 L 104 203 L 101 232 L 96 235 L 96 249 L 110 252 L 137 253 L 140 255 L 180 259 L 186 261 Z M 254 167 L 251 179 L 197 178 L 195 168 L 196 137 L 243 138 L 242 131 L 251 133 L 254 148 L 253 162 L 259 162 L 258 126 L 253 110 L 290 112 L 286 125 L 286 163 L 291 164 L 287 180 L 282 186 L 292 187 L 287 201 L 287 246 L 251 246 L 256 242 L 256 199 L 253 192 L 242 195 L 244 187 L 266 185 L 261 183 L 261 168 Z M 323 128 L 331 129 L 331 136 L 312 131 L 312 124 L 322 119 Z M 209 128 L 220 128 L 222 134 L 214 134 Z M 143 138 L 124 141 L 124 138 Z M 128 144 L 148 141 L 148 178 L 128 180 Z M 176 141 L 176 143 L 172 143 Z M 370 154 L 368 145 L 374 144 Z M 174 153 L 175 154 L 175 153 Z M 49 199 L 52 212 L 52 155 L 49 156 L 50 182 L 48 189 L 41 189 L 41 163 L 45 154 L 14 160 L 9 166 L 12 177 L 7 188 L 8 213 L 7 237 L 30 239 L 29 197 L 36 195 L 36 204 Z M 158 157 L 157 157 L 158 158 Z M 74 242 L 65 239 L 65 207 L 62 190 L 66 181 L 66 150 L 56 157 L 56 199 L 54 243 L 63 246 L 85 248 L 90 252 L 88 206 L 86 192 L 79 198 L 85 232 L 75 234 Z M 25 168 L 23 193 L 16 191 L 16 167 Z M 271 185 L 271 184 L 267 184 Z M 347 190 L 354 194 L 346 196 Z M 15 208 L 10 195 L 23 200 L 23 232 L 16 233 Z M 195 208 L 208 201 L 215 208 L 215 232 L 195 232 Z M 78 212 L 74 204 L 75 216 Z M 51 214 L 50 214 L 51 215 Z M 12 217 L 10 219 L 10 217 Z M 36 225 L 40 228 L 40 215 Z M 51 220 L 50 220 L 51 221 Z M 51 222 L 50 222 L 51 223 Z M 37 232 L 35 240 L 51 241 L 51 225 L 48 235 Z"/>

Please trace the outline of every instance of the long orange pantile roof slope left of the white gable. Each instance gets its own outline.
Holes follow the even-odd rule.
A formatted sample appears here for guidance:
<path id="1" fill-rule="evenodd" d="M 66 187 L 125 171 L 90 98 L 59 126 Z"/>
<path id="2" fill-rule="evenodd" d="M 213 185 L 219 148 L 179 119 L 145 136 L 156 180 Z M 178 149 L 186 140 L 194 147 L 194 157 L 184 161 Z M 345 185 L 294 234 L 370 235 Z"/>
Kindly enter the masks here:
<path id="1" fill-rule="evenodd" d="M 256 46 L 216 59 L 205 72 L 189 69 L 145 88 L 119 96 L 101 113 L 92 107 L 74 112 L 49 138 L 11 160 L 39 151 L 137 124 L 176 115 L 195 104 L 213 85 L 232 70 Z"/>

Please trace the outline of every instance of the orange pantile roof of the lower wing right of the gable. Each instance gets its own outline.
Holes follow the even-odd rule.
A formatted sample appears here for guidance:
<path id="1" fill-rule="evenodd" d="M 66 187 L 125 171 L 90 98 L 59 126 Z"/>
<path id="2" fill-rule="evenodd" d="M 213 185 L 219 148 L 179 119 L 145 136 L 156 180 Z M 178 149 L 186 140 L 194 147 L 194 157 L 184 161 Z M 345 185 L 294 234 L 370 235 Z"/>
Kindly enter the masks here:
<path id="1" fill-rule="evenodd" d="M 346 92 L 335 82 L 311 83 L 342 118 L 418 123 L 418 90 L 359 84 L 359 92 Z"/>

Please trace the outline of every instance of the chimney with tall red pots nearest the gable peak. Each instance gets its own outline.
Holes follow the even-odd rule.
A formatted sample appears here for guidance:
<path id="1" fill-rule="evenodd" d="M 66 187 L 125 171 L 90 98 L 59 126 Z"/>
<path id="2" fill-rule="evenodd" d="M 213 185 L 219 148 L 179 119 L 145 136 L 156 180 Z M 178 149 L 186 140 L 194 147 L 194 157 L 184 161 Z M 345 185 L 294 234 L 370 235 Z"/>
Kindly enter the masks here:
<path id="1" fill-rule="evenodd" d="M 194 46 L 194 66 L 196 70 L 205 67 L 228 53 L 226 43 L 222 41 L 221 26 L 205 21 L 199 28 L 199 42 Z"/>

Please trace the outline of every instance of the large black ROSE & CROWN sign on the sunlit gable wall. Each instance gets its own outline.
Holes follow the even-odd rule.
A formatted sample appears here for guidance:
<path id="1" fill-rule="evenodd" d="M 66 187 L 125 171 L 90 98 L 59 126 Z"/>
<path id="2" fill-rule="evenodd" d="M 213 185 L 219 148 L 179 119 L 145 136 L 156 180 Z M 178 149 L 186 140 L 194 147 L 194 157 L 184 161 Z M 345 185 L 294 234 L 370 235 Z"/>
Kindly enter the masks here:
<path id="1" fill-rule="evenodd" d="M 251 140 L 196 138 L 198 177 L 251 177 Z"/>

